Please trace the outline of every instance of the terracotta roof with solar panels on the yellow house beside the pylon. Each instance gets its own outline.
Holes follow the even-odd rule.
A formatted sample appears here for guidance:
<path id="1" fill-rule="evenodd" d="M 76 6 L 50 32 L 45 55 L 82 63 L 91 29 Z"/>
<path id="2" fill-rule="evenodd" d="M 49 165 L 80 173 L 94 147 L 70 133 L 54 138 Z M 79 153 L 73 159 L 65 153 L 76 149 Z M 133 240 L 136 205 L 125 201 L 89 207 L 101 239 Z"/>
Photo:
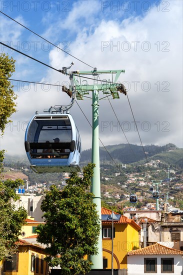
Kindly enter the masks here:
<path id="1" fill-rule="evenodd" d="M 109 209 L 107 209 L 105 207 L 101 207 L 101 214 L 102 215 L 110 215 L 111 213 L 112 213 L 112 210 L 109 210 Z M 118 214 L 118 213 L 114 212 L 114 214 Z M 112 223 L 111 220 L 103 220 L 101 222 L 102 222 L 102 224 L 111 224 Z M 134 227 L 136 227 L 138 230 L 141 230 L 141 227 L 138 224 L 136 224 L 136 222 L 134 222 L 134 220 L 129 219 L 129 218 L 123 216 L 123 215 L 120 215 L 119 220 L 117 220 L 117 221 L 113 220 L 113 223 L 114 224 L 117 224 L 117 223 L 130 223 L 131 225 L 133 225 Z"/>

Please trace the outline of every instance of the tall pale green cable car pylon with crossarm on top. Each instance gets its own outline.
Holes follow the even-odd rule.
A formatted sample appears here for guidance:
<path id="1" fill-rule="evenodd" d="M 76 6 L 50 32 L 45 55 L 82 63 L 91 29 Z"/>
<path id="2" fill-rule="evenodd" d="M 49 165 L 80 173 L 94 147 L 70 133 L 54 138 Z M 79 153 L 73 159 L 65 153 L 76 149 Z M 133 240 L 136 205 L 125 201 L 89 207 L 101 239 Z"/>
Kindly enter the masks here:
<path id="1" fill-rule="evenodd" d="M 94 68 L 92 71 L 71 71 L 70 82 L 72 92 L 74 91 L 75 97 L 78 100 L 84 98 L 92 99 L 92 152 L 91 162 L 95 163 L 93 170 L 93 177 L 91 182 L 91 192 L 94 194 L 93 202 L 96 204 L 98 211 L 98 218 L 100 220 L 100 235 L 97 243 L 97 254 L 90 255 L 89 258 L 92 261 L 92 269 L 102 269 L 102 235 L 101 235 L 101 194 L 100 194 L 100 168 L 99 168 L 99 141 L 98 141 L 98 100 L 99 91 L 103 93 L 104 98 L 112 97 L 113 99 L 119 98 L 118 91 L 126 94 L 126 89 L 123 84 L 117 83 L 117 79 L 120 73 L 124 73 L 124 70 L 99 70 Z M 98 78 L 99 75 L 109 75 L 109 79 Z M 85 78 L 82 78 L 85 77 Z M 93 80 L 92 84 L 88 84 L 87 78 Z M 84 81 L 83 81 L 84 80 Z M 98 81 L 101 81 L 98 84 Z M 92 93 L 92 97 L 89 97 L 89 91 Z"/>

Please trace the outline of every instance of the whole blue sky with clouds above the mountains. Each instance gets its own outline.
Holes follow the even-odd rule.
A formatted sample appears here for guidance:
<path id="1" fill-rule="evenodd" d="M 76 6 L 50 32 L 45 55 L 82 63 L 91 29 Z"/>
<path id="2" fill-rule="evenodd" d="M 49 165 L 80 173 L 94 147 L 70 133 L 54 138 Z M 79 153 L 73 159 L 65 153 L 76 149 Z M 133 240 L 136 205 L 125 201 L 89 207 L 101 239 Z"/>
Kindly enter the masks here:
<path id="1" fill-rule="evenodd" d="M 1 0 L 0 5 L 3 13 L 66 52 L 3 13 L 0 13 L 0 41 L 56 69 L 72 61 L 71 70 L 124 69 L 118 80 L 127 89 L 142 144 L 171 142 L 182 147 L 181 0 Z M 69 83 L 68 76 L 12 49 L 0 45 L 0 50 L 16 60 L 12 79 Z M 0 148 L 8 154 L 23 155 L 26 125 L 35 111 L 41 113 L 51 105 L 69 104 L 70 98 L 61 87 L 12 83 L 18 95 L 17 112 L 5 129 Z M 120 99 L 110 102 L 99 101 L 99 137 L 104 145 L 127 140 L 140 144 L 127 97 L 119 96 Z M 91 100 L 86 99 L 77 103 L 91 123 Z M 70 113 L 79 129 L 82 149 L 87 149 L 91 147 L 91 127 L 78 105 L 75 103 Z"/>

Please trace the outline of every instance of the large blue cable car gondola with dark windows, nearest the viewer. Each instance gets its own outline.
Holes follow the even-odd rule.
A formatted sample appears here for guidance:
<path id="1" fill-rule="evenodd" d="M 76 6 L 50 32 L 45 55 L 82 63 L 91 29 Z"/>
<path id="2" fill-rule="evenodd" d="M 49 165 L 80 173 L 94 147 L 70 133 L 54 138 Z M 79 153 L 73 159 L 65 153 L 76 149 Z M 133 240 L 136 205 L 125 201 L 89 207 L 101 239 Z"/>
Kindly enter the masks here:
<path id="1" fill-rule="evenodd" d="M 69 113 L 36 113 L 27 125 L 24 143 L 35 172 L 80 171 L 80 135 Z"/>

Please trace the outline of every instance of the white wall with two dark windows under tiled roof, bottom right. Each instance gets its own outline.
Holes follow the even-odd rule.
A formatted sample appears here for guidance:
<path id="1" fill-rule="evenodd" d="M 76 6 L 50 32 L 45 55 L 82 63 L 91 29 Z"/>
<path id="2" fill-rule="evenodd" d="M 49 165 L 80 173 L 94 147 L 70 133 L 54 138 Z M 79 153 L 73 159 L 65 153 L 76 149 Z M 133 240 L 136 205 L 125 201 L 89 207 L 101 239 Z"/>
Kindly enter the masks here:
<path id="1" fill-rule="evenodd" d="M 157 258 L 157 273 L 144 273 L 144 258 Z M 161 258 L 174 258 L 173 275 L 182 275 L 181 255 L 129 255 L 127 256 L 127 275 L 161 275 Z M 167 273 L 166 273 L 167 274 Z"/>

